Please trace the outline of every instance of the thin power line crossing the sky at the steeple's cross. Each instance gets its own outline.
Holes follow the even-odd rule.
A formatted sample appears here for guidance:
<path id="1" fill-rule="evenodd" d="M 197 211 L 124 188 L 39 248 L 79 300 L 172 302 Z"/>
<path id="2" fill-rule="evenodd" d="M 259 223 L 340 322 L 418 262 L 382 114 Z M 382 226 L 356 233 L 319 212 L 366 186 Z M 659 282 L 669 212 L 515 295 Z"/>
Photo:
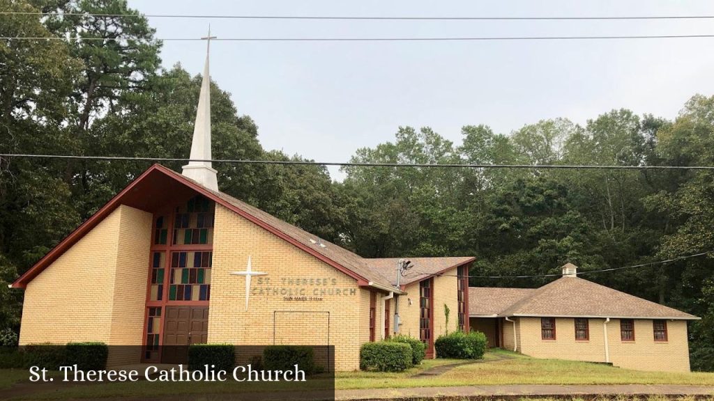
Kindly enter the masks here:
<path id="1" fill-rule="evenodd" d="M 714 34 L 701 35 L 615 35 L 615 36 L 454 36 L 454 37 L 389 37 L 389 38 L 216 38 L 211 41 L 260 41 L 260 42 L 370 42 L 370 41 L 571 41 L 571 40 L 616 40 L 616 39 L 703 39 Z M 141 40 L 130 37 L 82 38 L 73 36 L 0 36 L 2 40 L 32 41 L 124 41 Z M 158 41 L 202 41 L 200 38 L 155 38 Z"/>

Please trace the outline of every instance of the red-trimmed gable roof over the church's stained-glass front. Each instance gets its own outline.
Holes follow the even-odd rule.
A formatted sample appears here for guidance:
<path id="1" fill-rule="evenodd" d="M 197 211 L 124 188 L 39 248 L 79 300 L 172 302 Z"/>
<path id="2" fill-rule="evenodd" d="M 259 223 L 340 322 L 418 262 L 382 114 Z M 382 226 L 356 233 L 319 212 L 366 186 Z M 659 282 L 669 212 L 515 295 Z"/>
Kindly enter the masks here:
<path id="1" fill-rule="evenodd" d="M 259 225 L 261 228 L 286 240 L 288 243 L 309 253 L 319 260 L 327 263 L 357 280 L 358 285 L 371 286 L 380 290 L 395 291 L 401 293 L 393 287 L 392 280 L 385 275 L 385 270 L 371 267 L 368 260 L 345 248 L 322 240 L 316 235 L 312 235 L 301 228 L 287 223 L 275 216 L 254 208 L 248 203 L 233 198 L 226 193 L 213 191 L 200 183 L 182 176 L 176 171 L 154 164 L 144 171 L 138 178 L 132 181 L 126 188 L 111 198 L 106 205 L 99 209 L 94 215 L 82 223 L 76 230 L 67 235 L 58 245 L 44 255 L 34 266 L 27 270 L 10 286 L 12 288 L 25 288 L 33 278 L 42 270 L 51 265 L 66 250 L 71 248 L 86 233 L 96 227 L 101 220 L 104 220 L 111 212 L 119 208 L 120 205 L 129 205 L 146 211 L 154 211 L 172 198 L 180 196 L 190 196 L 193 193 L 200 193 L 219 205 L 232 210 L 243 218 Z M 324 245 L 321 246 L 320 244 Z M 429 258 L 423 258 L 425 260 Z M 437 258 L 442 259 L 442 258 Z"/>

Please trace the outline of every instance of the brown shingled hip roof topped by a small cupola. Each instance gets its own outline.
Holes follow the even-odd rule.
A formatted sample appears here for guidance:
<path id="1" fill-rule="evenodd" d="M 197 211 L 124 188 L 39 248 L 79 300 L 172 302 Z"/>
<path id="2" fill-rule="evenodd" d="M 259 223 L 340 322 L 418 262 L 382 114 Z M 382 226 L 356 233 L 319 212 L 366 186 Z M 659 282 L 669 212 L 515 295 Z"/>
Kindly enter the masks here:
<path id="1" fill-rule="evenodd" d="M 578 277 L 563 277 L 502 310 L 501 316 L 696 320 L 696 316 Z"/>

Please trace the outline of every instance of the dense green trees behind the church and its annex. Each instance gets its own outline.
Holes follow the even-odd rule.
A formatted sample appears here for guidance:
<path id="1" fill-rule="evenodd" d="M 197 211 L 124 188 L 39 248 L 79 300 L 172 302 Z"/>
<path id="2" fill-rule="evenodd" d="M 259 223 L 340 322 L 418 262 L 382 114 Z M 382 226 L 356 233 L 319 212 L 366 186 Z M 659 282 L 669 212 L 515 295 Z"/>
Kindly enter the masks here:
<path id="1" fill-rule="evenodd" d="M 186 158 L 200 76 L 161 67 L 161 41 L 124 0 L 0 0 L 7 11 L 111 16 L 0 16 L 0 153 Z M 102 37 L 106 41 L 76 41 Z M 109 40 L 124 38 L 121 40 Z M 303 160 L 264 149 L 258 127 L 211 84 L 213 156 Z M 673 120 L 613 110 L 584 125 L 538 121 L 511 133 L 463 126 L 455 143 L 399 127 L 351 161 L 714 166 L 714 96 L 695 95 Z M 181 163 L 167 163 L 180 171 Z M 142 161 L 0 160 L 0 340 L 19 330 L 11 283 L 149 167 Z M 343 168 L 219 163 L 221 191 L 364 257 L 477 257 L 471 275 L 617 268 L 714 250 L 710 171 Z M 603 285 L 703 318 L 690 324 L 693 368 L 714 370 L 714 262 L 593 273 Z M 471 278 L 537 287 L 553 278 Z"/>

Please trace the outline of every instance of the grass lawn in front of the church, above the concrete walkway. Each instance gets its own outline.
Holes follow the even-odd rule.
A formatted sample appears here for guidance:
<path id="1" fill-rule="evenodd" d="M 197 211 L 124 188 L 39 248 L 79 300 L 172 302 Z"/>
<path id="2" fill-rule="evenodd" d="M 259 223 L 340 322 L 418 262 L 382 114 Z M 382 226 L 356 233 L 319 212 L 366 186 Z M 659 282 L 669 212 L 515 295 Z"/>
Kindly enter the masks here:
<path id="1" fill-rule="evenodd" d="M 503 350 L 487 352 L 482 361 L 453 367 L 453 369 L 444 372 L 442 375 L 417 377 L 424 370 L 460 362 L 464 361 L 425 360 L 418 367 L 398 373 L 338 372 L 335 386 L 337 390 L 507 384 L 678 384 L 714 386 L 714 373 L 640 372 L 588 362 L 539 360 Z M 27 373 L 24 370 L 0 370 L 0 389 L 4 385 L 7 387 L 9 384 L 24 380 L 26 377 Z M 316 388 L 320 386 L 320 383 L 313 381 L 310 385 L 312 388 Z M 260 391 L 258 387 L 251 387 L 250 384 L 233 381 L 212 383 L 104 383 L 64 387 L 51 392 L 34 394 L 27 398 L 33 400 L 66 400 L 90 397 L 158 397 L 176 394 L 247 392 L 251 391 L 251 388 Z M 271 386 L 271 390 L 277 389 Z"/>

